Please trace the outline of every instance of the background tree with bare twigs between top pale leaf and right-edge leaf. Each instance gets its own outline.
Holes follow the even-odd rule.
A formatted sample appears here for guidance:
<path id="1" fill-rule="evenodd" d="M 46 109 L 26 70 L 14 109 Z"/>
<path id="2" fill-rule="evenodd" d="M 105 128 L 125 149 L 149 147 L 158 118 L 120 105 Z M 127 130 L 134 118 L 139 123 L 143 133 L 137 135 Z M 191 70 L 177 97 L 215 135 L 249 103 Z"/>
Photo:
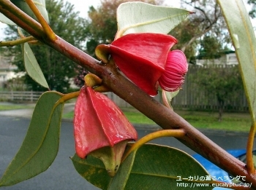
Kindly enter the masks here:
<path id="1" fill-rule="evenodd" d="M 217 1 L 181 0 L 181 7 L 194 11 L 195 14 L 174 28 L 170 34 L 179 39 L 176 48 L 185 52 L 189 63 L 195 63 L 198 49 L 202 46 L 211 47 L 212 42 L 214 42 L 213 47 L 204 48 L 205 58 L 208 55 L 211 58 L 213 54 L 216 55 L 227 48 L 230 37 Z"/>

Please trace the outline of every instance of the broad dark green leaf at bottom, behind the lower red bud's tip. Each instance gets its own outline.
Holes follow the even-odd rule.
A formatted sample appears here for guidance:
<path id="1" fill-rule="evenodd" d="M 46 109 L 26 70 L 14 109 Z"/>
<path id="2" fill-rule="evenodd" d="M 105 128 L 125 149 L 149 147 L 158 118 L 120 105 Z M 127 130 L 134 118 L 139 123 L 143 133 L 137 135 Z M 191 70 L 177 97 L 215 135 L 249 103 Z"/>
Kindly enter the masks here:
<path id="1" fill-rule="evenodd" d="M 129 154 L 114 178 L 110 178 L 104 165 L 93 157 L 79 159 L 75 156 L 72 161 L 83 178 L 104 190 L 169 190 L 170 187 L 171 189 L 184 189 L 184 186 L 178 186 L 177 183 L 186 183 L 190 186 L 199 181 L 189 181 L 189 176 L 194 178 L 209 175 L 194 158 L 184 151 L 154 144 L 145 144 L 138 151 Z M 179 181 L 180 178 L 187 178 L 187 180 Z M 201 182 L 209 183 L 210 181 Z M 202 188 L 195 186 L 194 189 Z M 212 188 L 204 187 L 203 189 Z"/>

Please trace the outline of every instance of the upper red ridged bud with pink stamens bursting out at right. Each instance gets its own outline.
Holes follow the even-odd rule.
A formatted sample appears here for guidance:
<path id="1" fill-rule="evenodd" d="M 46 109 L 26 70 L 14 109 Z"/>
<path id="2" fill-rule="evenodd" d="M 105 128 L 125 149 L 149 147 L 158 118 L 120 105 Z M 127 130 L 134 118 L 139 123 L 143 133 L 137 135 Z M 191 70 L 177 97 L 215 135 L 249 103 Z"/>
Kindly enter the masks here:
<path id="1" fill-rule="evenodd" d="M 169 74 L 162 77 L 161 84 L 165 84 L 163 89 L 178 89 L 181 87 L 181 79 L 178 79 L 173 72 L 175 64 L 187 66 L 184 54 L 170 53 L 170 48 L 177 43 L 177 40 L 170 35 L 160 33 L 130 33 L 113 41 L 110 44 L 110 55 L 113 57 L 118 68 L 140 89 L 148 95 L 157 95 L 157 81 L 167 69 Z M 168 58 L 168 55 L 175 55 L 175 58 Z M 179 60 L 181 59 L 181 60 Z M 171 60 L 172 66 L 167 66 L 167 61 Z M 174 61 L 175 60 L 175 61 Z M 177 71 L 174 71 L 177 72 Z M 182 71 L 184 73 L 184 71 Z M 175 76 L 174 79 L 167 80 L 166 77 Z M 184 76 L 182 76 L 184 79 Z M 170 84 L 171 81 L 175 84 Z M 178 82 L 181 82 L 178 83 Z M 160 84 L 160 85 L 161 85 Z M 170 91 L 169 90 L 169 91 Z"/>

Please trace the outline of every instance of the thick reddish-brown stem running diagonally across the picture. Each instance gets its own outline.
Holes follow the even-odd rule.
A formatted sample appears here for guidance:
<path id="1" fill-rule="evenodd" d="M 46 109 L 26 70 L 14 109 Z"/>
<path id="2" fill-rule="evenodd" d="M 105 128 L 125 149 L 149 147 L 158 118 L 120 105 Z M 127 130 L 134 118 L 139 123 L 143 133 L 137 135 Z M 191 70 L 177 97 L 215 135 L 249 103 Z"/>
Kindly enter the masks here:
<path id="1" fill-rule="evenodd" d="M 3 10 L 1 5 L 6 4 L 4 1 L 6 0 L 0 0 L 0 12 Z M 62 55 L 73 60 L 75 63 L 78 63 L 80 66 L 83 66 L 91 73 L 101 77 L 103 83 L 113 90 L 116 95 L 126 100 L 140 112 L 148 116 L 148 118 L 154 120 L 154 122 L 159 124 L 163 129 L 184 130 L 184 137 L 179 138 L 178 140 L 198 154 L 206 157 L 206 159 L 221 167 L 223 170 L 228 171 L 230 174 L 245 176 L 246 183 L 252 183 L 252 187 L 256 189 L 256 175 L 254 173 L 250 175 L 243 162 L 228 154 L 216 143 L 212 142 L 195 129 L 195 127 L 192 127 L 192 125 L 181 116 L 178 116 L 178 114 L 171 111 L 170 108 L 163 106 L 161 103 L 154 100 L 154 98 L 151 98 L 145 92 L 140 90 L 135 84 L 119 74 L 117 69 L 111 66 L 111 64 L 105 65 L 100 63 L 98 60 L 91 58 L 91 56 L 78 50 L 78 48 L 73 47 L 58 36 L 55 41 L 50 41 L 47 38 L 44 39 L 40 36 L 41 29 L 34 29 L 34 23 L 31 25 L 24 25 L 23 23 L 27 23 L 25 20 L 17 20 L 18 17 L 7 12 L 7 10 L 2 13 L 12 21 L 16 21 L 15 23 L 20 23 L 20 27 L 31 33 L 31 35 L 34 34 L 37 39 L 40 39 L 45 44 L 48 44 L 48 46 L 59 51 Z M 30 17 L 29 20 L 31 20 Z M 40 25 L 39 28 L 41 28 Z"/>

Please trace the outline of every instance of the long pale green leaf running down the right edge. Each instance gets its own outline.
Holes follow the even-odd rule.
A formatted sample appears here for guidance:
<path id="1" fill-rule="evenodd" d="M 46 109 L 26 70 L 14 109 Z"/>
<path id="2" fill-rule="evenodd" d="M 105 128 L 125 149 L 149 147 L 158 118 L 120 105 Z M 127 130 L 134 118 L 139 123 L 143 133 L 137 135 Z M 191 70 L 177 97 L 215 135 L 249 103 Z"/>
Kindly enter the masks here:
<path id="1" fill-rule="evenodd" d="M 233 46 L 236 49 L 241 76 L 252 114 L 253 122 L 256 122 L 256 39 L 252 23 L 242 0 L 226 1 L 218 0 L 225 17 Z"/>

